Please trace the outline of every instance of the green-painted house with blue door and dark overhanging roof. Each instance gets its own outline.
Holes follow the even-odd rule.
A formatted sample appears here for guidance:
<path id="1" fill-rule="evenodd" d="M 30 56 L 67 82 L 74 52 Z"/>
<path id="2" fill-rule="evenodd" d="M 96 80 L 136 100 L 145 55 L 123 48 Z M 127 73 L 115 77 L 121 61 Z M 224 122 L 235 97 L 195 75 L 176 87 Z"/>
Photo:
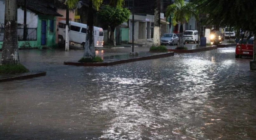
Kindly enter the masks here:
<path id="1" fill-rule="evenodd" d="M 2 2 L 2 5 L 1 5 Z M 18 46 L 19 48 L 54 48 L 56 44 L 56 16 L 62 16 L 56 12 L 55 5 L 44 2 L 44 0 L 33 0 L 27 3 L 27 37 L 23 37 L 24 24 L 24 0 L 18 0 Z M 0 8 L 4 9 L 4 0 L 0 0 Z M 2 6 L 2 7 L 1 7 Z M 0 24 L 1 16 L 4 16 L 4 11 L 0 10 Z M 3 46 L 3 31 L 0 26 L 0 49 Z M 24 41 L 25 40 L 25 41 Z"/>

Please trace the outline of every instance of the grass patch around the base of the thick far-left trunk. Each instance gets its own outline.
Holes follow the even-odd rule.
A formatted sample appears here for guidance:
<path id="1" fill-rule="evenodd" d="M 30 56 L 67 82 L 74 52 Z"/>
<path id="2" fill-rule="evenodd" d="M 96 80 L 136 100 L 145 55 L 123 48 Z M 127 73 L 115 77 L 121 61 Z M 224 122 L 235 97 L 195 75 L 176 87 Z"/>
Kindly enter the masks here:
<path id="1" fill-rule="evenodd" d="M 4 64 L 0 65 L 0 75 L 18 74 L 29 72 L 22 64 Z"/>

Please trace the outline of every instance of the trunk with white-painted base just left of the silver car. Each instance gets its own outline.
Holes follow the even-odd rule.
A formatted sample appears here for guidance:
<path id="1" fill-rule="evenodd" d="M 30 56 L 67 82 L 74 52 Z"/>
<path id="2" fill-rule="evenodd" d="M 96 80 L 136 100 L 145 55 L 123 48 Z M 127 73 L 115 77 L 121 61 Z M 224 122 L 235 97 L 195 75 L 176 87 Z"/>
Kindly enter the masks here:
<path id="1" fill-rule="evenodd" d="M 154 37 L 153 45 L 160 46 L 160 0 L 156 0 L 155 16 L 154 16 Z"/>

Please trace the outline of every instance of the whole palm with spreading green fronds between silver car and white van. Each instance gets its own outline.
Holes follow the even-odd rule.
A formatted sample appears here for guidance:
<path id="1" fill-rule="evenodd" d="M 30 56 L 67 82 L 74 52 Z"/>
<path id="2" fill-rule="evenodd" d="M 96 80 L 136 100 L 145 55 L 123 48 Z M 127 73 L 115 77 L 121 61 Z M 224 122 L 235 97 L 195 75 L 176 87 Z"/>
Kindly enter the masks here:
<path id="1" fill-rule="evenodd" d="M 198 19 L 195 5 L 192 3 L 185 3 L 184 0 L 174 0 L 174 3 L 167 7 L 165 16 L 169 17 L 172 13 L 173 25 L 175 26 L 177 23 L 180 23 L 179 42 L 183 42 L 183 24 L 188 22 L 191 16 L 195 16 L 196 19 Z M 179 43 L 178 47 L 184 47 L 184 44 Z"/>

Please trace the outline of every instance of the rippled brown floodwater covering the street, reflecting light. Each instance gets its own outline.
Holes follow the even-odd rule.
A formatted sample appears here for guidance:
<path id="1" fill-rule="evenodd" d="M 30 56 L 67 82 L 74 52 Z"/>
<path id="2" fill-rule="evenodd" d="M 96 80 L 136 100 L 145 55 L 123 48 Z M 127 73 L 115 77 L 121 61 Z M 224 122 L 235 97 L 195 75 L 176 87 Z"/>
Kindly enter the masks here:
<path id="1" fill-rule="evenodd" d="M 0 83 L 0 139 L 256 137 L 256 71 L 235 47 L 108 67 L 63 65 L 82 51 L 19 53 L 47 75 Z"/>

